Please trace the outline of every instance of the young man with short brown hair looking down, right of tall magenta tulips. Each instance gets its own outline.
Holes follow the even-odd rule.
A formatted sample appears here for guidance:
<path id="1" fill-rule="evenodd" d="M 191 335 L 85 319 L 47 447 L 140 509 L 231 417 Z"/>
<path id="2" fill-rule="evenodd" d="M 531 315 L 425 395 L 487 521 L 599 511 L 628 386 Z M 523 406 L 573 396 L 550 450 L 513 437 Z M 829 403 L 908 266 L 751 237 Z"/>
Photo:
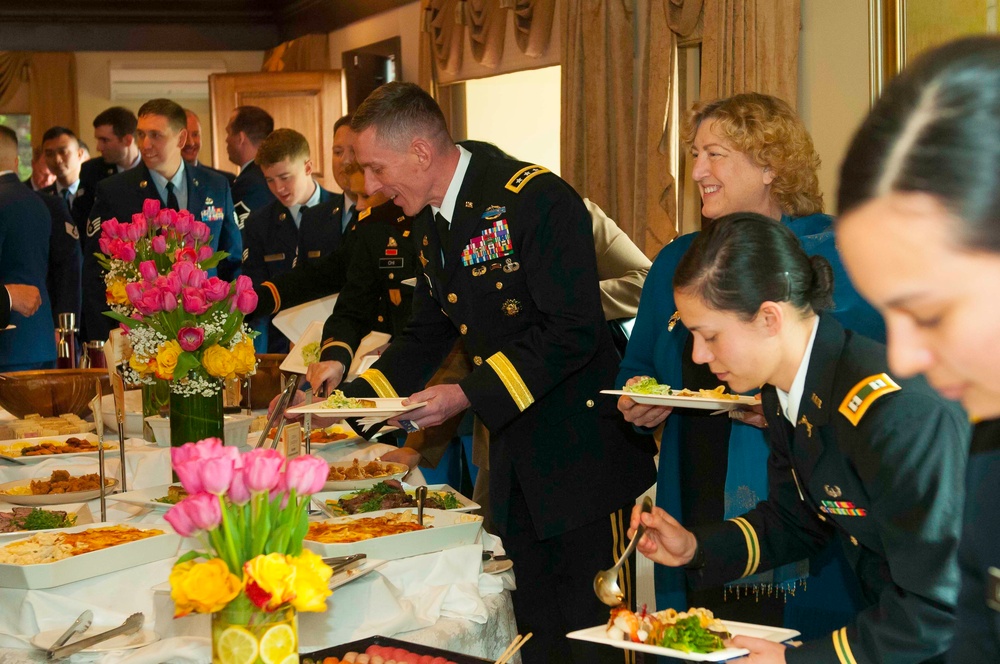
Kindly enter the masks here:
<path id="1" fill-rule="evenodd" d="M 312 177 L 306 137 L 294 129 L 277 129 L 264 139 L 256 163 L 276 200 L 250 213 L 243 226 L 243 273 L 255 285 L 271 281 L 302 262 L 318 261 L 340 246 L 343 230 L 330 215 L 304 210 L 330 201 L 333 195 Z M 259 319 L 257 352 L 287 353 L 289 340 Z"/>

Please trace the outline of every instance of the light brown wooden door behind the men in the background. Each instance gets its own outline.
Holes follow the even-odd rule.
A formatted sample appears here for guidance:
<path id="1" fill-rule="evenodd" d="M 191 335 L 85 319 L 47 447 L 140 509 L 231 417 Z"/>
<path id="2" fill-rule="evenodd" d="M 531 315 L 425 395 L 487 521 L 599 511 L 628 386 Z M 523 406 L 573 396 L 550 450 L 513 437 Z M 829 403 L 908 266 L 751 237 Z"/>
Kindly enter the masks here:
<path id="1" fill-rule="evenodd" d="M 208 77 L 212 107 L 212 159 L 235 173 L 226 155 L 226 125 L 237 106 L 259 106 L 274 118 L 274 128 L 287 127 L 309 141 L 316 181 L 339 191 L 330 171 L 333 123 L 343 115 L 341 72 L 212 74 Z"/>

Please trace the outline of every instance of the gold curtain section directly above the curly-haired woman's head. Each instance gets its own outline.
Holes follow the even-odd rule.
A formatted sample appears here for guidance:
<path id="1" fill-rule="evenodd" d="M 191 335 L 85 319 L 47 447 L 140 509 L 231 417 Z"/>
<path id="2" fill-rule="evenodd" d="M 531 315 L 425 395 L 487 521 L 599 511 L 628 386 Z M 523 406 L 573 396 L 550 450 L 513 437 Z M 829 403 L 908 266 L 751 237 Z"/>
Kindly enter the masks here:
<path id="1" fill-rule="evenodd" d="M 799 0 L 705 0 L 701 98 L 798 95 Z"/>

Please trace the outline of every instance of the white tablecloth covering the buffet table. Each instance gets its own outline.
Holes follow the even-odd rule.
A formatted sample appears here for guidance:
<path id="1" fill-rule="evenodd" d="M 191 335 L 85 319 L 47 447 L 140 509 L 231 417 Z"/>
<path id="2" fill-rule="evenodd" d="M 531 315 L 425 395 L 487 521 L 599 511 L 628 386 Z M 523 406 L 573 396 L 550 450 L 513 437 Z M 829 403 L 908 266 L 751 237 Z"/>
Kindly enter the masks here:
<path id="1" fill-rule="evenodd" d="M 128 488 L 143 489 L 170 482 L 169 448 L 145 441 L 126 441 Z M 384 454 L 391 446 L 354 438 L 313 453 L 328 461 Z M 108 454 L 108 476 L 118 472 L 117 453 Z M 0 482 L 47 477 L 56 468 L 73 474 L 96 472 L 96 457 L 50 458 L 24 466 L 0 466 Z M 419 469 L 406 478 L 423 483 Z M 99 501 L 89 503 L 100 519 Z M 108 521 L 162 524 L 164 510 L 107 502 Z M 0 509 L 9 509 L 0 505 Z M 483 533 L 486 548 L 502 551 L 499 540 Z M 300 652 L 347 643 L 381 634 L 412 643 L 454 650 L 487 659 L 499 656 L 517 633 L 509 590 L 513 573 L 481 573 L 482 544 L 384 563 L 371 573 L 338 587 L 325 613 L 299 616 Z M 182 551 L 184 547 L 182 546 Z M 123 569 L 91 579 L 43 590 L 0 588 L 0 661 L 5 664 L 44 661 L 30 639 L 39 631 L 63 629 L 84 609 L 94 611 L 95 625 L 114 627 L 129 614 L 141 611 L 145 627 L 158 641 L 134 650 L 105 654 L 77 654 L 71 662 L 208 662 L 211 659 L 210 618 L 192 615 L 173 618 L 173 602 L 166 584 L 173 559 Z M 93 628 L 92 628 L 93 630 Z M 103 631 L 103 630 L 99 630 Z M 516 661 L 516 660 L 515 660 Z"/>

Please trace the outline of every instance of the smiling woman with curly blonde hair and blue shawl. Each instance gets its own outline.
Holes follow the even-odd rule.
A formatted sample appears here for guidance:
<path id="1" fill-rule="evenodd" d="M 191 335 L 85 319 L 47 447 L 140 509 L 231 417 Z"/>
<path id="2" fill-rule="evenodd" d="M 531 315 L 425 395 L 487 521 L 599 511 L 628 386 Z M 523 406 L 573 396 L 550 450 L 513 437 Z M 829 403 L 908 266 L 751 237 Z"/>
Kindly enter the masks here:
<path id="1" fill-rule="evenodd" d="M 692 177 L 706 219 L 755 212 L 787 226 L 807 253 L 830 262 L 833 316 L 847 329 L 885 340 L 880 317 L 844 273 L 833 241 L 833 219 L 823 214 L 816 177 L 819 155 L 802 120 L 786 102 L 759 93 L 700 102 L 687 115 L 683 140 L 691 150 Z M 643 377 L 677 389 L 713 389 L 721 384 L 711 367 L 693 363 L 691 335 L 677 313 L 671 286 L 674 271 L 696 236 L 677 238 L 654 261 L 616 386 Z M 639 404 L 629 396 L 619 398 L 618 408 L 626 421 L 650 433 L 664 425 L 657 502 L 670 514 L 679 514 L 685 526 L 739 516 L 767 495 L 768 444 L 749 413 L 698 417 L 681 410 L 671 415 L 669 407 Z M 757 623 L 781 624 L 787 615 L 788 624 L 805 636 L 817 636 L 850 622 L 856 611 L 844 598 L 846 582 L 839 573 L 816 578 L 824 564 L 838 567 L 816 561 L 809 569 L 809 592 L 800 584 L 807 568 L 799 564 L 743 579 L 740 585 L 749 588 L 730 589 L 728 598 L 722 588 L 691 592 L 683 575 L 658 568 L 657 604 L 704 606 L 731 620 Z M 839 588 L 839 598 L 833 599 L 832 591 L 824 587 Z M 788 611 L 779 597 L 782 593 L 755 592 L 761 588 L 794 591 Z"/>

